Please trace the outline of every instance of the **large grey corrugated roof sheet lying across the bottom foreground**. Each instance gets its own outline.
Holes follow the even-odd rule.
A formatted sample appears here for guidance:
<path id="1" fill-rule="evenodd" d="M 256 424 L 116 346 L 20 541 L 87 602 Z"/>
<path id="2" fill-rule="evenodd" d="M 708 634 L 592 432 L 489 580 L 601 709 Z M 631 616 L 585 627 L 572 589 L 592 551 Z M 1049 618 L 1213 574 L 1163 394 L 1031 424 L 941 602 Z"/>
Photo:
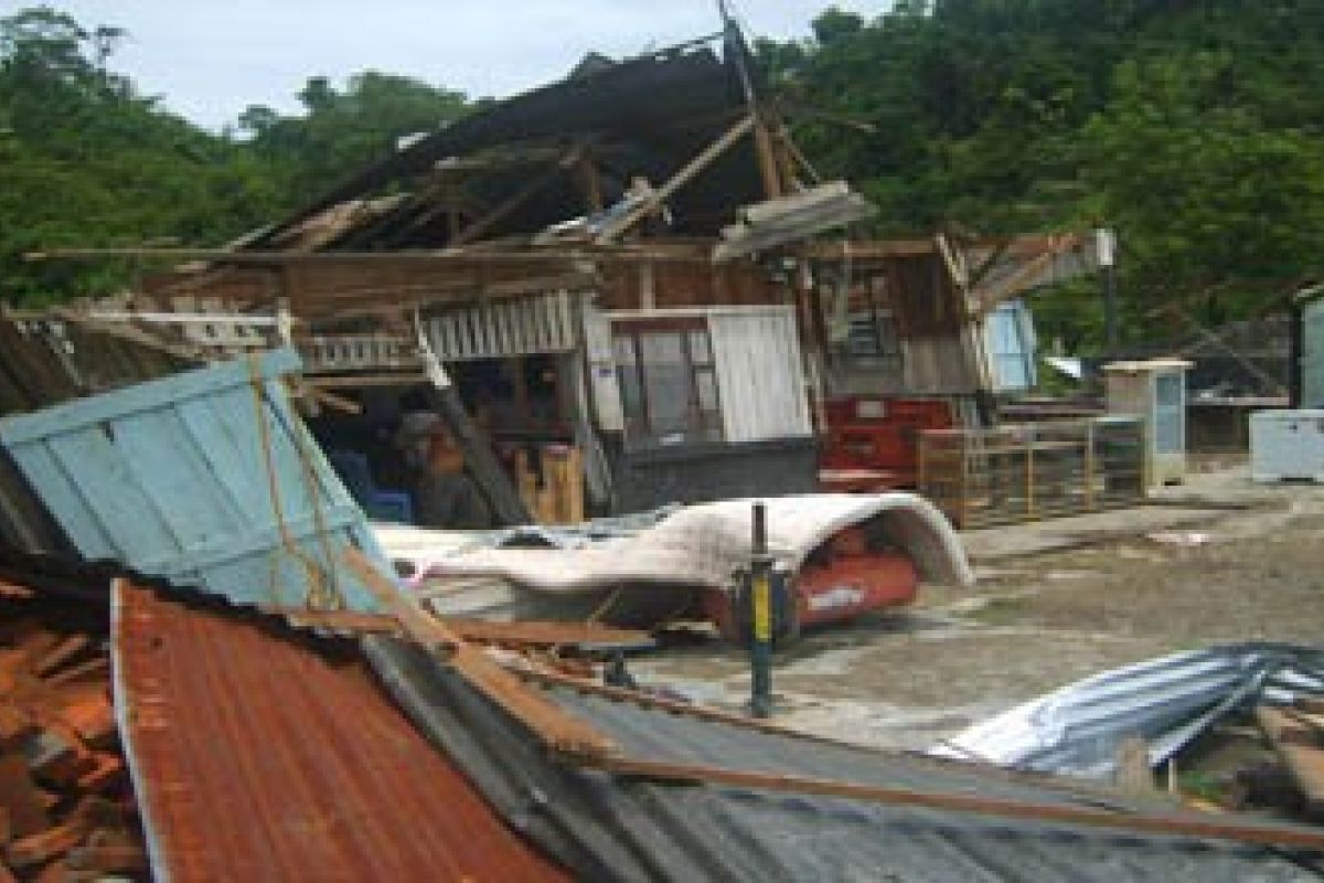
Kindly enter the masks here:
<path id="1" fill-rule="evenodd" d="M 401 704 L 489 800 L 585 879 L 1215 883 L 1321 875 L 1320 857 L 1283 850 L 572 769 L 548 761 L 486 700 L 417 651 L 377 638 L 365 646 Z M 759 732 L 601 695 L 565 688 L 548 695 L 634 757 L 1041 805 L 1155 809 L 1102 792 Z"/>

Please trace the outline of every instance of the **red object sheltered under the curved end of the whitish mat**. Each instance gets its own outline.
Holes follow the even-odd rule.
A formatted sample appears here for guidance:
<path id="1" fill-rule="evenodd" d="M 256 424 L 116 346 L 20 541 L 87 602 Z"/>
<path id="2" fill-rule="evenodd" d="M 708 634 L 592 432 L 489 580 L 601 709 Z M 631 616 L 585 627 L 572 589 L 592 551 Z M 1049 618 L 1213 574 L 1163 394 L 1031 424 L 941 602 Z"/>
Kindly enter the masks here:
<path id="1" fill-rule="evenodd" d="M 876 548 L 865 527 L 849 527 L 814 549 L 800 571 L 789 576 L 793 613 L 782 637 L 793 639 L 804 626 L 910 604 L 918 589 L 919 573 L 910 556 Z M 726 592 L 704 592 L 703 612 L 723 638 L 741 641 Z"/>

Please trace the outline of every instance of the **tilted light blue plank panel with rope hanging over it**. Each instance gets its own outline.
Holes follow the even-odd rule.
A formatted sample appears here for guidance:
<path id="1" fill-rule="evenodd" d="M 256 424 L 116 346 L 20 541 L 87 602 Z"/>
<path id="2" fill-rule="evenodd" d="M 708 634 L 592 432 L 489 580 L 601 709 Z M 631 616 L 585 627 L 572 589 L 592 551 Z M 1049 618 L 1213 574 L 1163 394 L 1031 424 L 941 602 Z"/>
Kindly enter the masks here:
<path id="1" fill-rule="evenodd" d="M 290 406 L 298 367 L 279 349 L 7 417 L 0 445 L 89 559 L 242 604 L 302 606 L 324 588 L 372 610 L 342 552 L 391 568 Z"/>

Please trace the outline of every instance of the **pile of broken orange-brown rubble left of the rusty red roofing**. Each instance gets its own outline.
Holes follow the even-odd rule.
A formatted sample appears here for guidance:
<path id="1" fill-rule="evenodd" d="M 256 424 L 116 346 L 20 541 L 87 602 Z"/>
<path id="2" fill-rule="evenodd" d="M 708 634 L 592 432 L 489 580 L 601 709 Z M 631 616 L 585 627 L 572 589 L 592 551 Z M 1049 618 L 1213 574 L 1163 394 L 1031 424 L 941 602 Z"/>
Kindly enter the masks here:
<path id="1" fill-rule="evenodd" d="M 0 882 L 146 878 L 103 633 L 0 610 Z"/>

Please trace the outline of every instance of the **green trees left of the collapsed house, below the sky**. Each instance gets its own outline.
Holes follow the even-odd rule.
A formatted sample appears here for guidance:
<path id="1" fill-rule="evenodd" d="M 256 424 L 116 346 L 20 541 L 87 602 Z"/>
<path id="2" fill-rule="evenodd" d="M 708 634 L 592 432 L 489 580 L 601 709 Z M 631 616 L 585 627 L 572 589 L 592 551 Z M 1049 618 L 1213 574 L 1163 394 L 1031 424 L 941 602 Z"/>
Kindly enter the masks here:
<path id="1" fill-rule="evenodd" d="M 254 106 L 209 132 L 111 70 L 122 37 L 45 7 L 0 19 L 0 299 L 113 291 L 131 279 L 127 263 L 23 256 L 226 242 L 466 107 L 463 95 L 405 77 L 368 71 L 343 91 L 314 77 L 299 93 L 305 113 Z"/>

